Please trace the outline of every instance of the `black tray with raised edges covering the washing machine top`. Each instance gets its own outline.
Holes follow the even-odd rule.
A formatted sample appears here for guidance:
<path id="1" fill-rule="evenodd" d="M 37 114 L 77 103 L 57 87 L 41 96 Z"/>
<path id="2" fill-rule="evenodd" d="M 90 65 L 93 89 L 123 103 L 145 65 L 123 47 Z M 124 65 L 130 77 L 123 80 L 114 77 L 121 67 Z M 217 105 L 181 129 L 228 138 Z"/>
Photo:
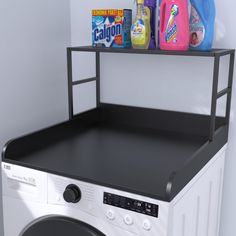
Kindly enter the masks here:
<path id="1" fill-rule="evenodd" d="M 209 116 L 101 104 L 73 120 L 10 141 L 3 161 L 171 201 L 227 143 Z"/>

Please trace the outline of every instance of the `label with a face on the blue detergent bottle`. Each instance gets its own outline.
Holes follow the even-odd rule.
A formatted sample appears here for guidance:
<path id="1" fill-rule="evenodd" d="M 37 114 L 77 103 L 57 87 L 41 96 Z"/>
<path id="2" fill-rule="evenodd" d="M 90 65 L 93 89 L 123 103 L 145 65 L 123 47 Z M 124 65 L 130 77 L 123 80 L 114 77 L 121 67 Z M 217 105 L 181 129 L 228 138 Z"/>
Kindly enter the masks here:
<path id="1" fill-rule="evenodd" d="M 205 27 L 196 9 L 191 7 L 190 16 L 190 46 L 198 47 L 205 37 Z"/>

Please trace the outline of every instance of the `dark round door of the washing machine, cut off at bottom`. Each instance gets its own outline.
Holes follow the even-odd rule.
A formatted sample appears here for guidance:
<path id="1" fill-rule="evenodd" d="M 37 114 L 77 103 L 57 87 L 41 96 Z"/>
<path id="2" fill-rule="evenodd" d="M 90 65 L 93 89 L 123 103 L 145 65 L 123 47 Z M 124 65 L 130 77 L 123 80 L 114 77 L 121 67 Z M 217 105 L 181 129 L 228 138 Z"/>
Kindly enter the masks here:
<path id="1" fill-rule="evenodd" d="M 92 226 L 67 217 L 48 217 L 29 225 L 20 236 L 105 236 Z"/>

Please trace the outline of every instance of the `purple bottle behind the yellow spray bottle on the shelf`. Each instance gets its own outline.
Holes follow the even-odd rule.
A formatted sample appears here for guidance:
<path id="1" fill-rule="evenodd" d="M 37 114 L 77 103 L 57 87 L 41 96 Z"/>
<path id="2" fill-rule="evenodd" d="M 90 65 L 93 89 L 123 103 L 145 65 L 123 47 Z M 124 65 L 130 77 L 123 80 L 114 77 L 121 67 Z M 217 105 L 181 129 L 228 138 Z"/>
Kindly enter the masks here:
<path id="1" fill-rule="evenodd" d="M 157 0 L 145 0 L 144 5 L 150 10 L 151 39 L 150 49 L 156 48 L 156 7 Z"/>

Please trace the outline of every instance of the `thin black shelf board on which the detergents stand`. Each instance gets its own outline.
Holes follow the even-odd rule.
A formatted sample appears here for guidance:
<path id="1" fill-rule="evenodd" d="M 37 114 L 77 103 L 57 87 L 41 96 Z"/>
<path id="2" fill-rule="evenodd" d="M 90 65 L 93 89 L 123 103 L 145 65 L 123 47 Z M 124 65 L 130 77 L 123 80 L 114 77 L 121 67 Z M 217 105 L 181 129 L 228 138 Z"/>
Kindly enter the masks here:
<path id="1" fill-rule="evenodd" d="M 81 52 L 102 52 L 102 53 L 128 53 L 128 54 L 156 54 L 156 55 L 176 55 L 176 56 L 199 56 L 215 57 L 233 53 L 234 49 L 212 49 L 210 51 L 163 51 L 160 49 L 133 49 L 133 48 L 100 48 L 92 46 L 68 47 L 71 51 Z"/>

